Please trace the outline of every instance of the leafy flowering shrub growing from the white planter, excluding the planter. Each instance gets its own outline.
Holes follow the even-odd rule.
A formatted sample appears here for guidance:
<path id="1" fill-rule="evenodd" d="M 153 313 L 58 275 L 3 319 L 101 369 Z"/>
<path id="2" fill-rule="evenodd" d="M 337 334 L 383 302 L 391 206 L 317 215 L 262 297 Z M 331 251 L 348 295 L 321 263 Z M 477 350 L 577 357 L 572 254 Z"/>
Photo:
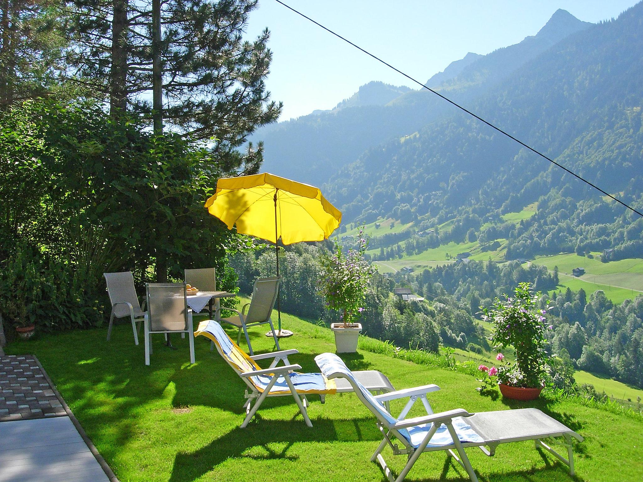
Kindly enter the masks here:
<path id="1" fill-rule="evenodd" d="M 332 254 L 321 256 L 320 293 L 326 299 L 326 306 L 341 312 L 344 326 L 355 323 L 364 311 L 368 281 L 375 268 L 364 259 L 368 240 L 359 229 L 359 248 L 342 253 L 336 244 Z"/>

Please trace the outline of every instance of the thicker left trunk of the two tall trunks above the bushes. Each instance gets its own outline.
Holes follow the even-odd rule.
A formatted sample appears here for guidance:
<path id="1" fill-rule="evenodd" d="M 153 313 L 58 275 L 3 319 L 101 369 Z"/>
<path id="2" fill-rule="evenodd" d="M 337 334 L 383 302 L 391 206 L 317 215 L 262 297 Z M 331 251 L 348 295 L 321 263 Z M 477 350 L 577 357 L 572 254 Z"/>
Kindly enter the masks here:
<path id="1" fill-rule="evenodd" d="M 112 66 L 109 113 L 117 118 L 127 109 L 127 12 L 128 0 L 114 0 L 112 19 Z"/>

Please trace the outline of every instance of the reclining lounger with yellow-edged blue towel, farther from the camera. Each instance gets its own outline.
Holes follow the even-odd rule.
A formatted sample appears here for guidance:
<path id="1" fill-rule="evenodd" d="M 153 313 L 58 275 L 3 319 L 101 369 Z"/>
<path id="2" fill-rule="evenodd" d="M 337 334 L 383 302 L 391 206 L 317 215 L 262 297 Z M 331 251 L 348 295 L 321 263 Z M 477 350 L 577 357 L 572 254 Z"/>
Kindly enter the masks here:
<path id="1" fill-rule="evenodd" d="M 350 383 L 345 380 L 328 380 L 321 373 L 297 373 L 294 371 L 301 370 L 302 367 L 297 364 L 291 364 L 288 361 L 288 355 L 299 353 L 297 350 L 281 350 L 262 355 L 247 355 L 231 340 L 217 321 L 211 319 L 201 321 L 199 328 L 194 333 L 195 337 L 199 335 L 203 335 L 213 341 L 219 355 L 228 362 L 237 375 L 248 385 L 249 391 L 246 389 L 245 395 L 248 401 L 244 404 L 246 418 L 241 427 L 248 425 L 248 422 L 255 415 L 266 397 L 284 397 L 287 395 L 293 396 L 306 425 L 312 427 L 306 411 L 308 405 L 306 395 L 320 395 L 321 403 L 323 403 L 325 395 L 354 391 Z M 257 360 L 264 359 L 273 359 L 266 370 L 262 370 L 257 365 Z M 280 361 L 284 365 L 277 366 Z M 394 390 L 386 375 L 379 371 L 356 371 L 353 375 L 359 380 L 360 386 L 367 391 L 384 393 Z M 253 400 L 255 400 L 254 404 L 252 403 Z"/>

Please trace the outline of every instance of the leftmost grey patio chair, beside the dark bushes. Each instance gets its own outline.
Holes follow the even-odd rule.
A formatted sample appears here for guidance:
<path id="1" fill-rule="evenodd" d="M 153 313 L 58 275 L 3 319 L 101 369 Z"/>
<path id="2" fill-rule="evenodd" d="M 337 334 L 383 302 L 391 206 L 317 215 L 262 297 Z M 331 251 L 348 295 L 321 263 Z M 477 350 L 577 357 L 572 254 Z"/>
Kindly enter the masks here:
<path id="1" fill-rule="evenodd" d="M 136 296 L 132 272 L 105 272 L 103 276 L 105 276 L 105 282 L 107 283 L 109 302 L 112 304 L 112 312 L 109 316 L 109 328 L 107 328 L 107 341 L 109 341 L 112 335 L 114 318 L 129 316 L 132 321 L 132 330 L 134 331 L 134 344 L 138 345 L 139 323 L 143 321 L 145 312 L 141 309 L 138 296 Z M 145 304 L 145 301 L 143 301 L 143 304 Z"/>

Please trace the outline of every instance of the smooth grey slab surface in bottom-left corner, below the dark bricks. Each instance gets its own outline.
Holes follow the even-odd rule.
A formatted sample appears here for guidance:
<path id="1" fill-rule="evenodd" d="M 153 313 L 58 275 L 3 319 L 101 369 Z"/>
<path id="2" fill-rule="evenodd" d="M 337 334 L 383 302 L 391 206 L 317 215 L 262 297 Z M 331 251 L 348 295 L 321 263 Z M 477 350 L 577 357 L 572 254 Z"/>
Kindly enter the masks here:
<path id="1" fill-rule="evenodd" d="M 68 416 L 0 422 L 0 482 L 109 482 Z"/>

